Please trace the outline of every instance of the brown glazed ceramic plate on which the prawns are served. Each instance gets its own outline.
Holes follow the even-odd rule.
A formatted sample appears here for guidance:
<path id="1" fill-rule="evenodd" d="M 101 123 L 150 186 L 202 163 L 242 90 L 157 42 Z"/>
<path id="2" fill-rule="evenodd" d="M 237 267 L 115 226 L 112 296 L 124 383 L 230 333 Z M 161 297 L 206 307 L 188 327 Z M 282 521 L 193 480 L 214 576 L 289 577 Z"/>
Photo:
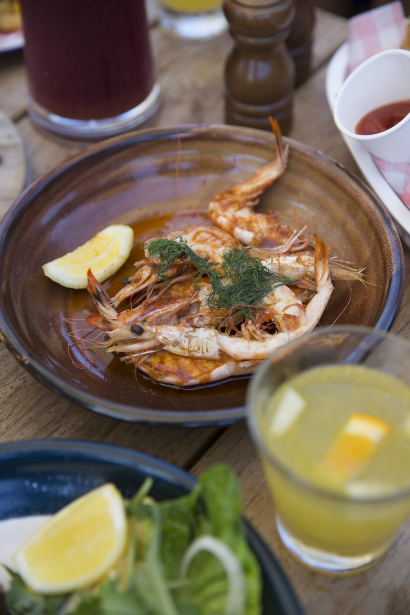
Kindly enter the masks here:
<path id="1" fill-rule="evenodd" d="M 181 185 L 192 205 L 206 210 L 211 196 L 251 177 L 275 156 L 274 137 L 231 126 L 181 127 Z M 366 267 L 368 285 L 335 284 L 321 319 L 387 330 L 403 296 L 404 261 L 392 219 L 355 175 L 323 154 L 288 140 L 286 173 L 262 197 L 269 209 L 294 216 L 317 232 L 332 254 Z M 84 369 L 67 352 L 65 319 L 92 308 L 86 291 L 63 288 L 41 265 L 83 244 L 108 224 L 132 224 L 136 247 L 111 293 L 138 258 L 138 245 L 168 221 L 192 221 L 176 181 L 177 133 L 150 129 L 113 138 L 69 158 L 34 182 L 0 225 L 0 329 L 15 357 L 39 381 L 86 408 L 128 421 L 227 424 L 245 414 L 248 378 L 176 389 L 138 376 L 102 351 Z M 172 216 L 185 210 L 182 218 Z M 152 216 L 159 216 L 149 220 Z M 285 220 L 285 218 L 284 218 Z M 75 354 L 75 351 L 74 351 Z M 79 356 L 77 357 L 78 360 Z"/>

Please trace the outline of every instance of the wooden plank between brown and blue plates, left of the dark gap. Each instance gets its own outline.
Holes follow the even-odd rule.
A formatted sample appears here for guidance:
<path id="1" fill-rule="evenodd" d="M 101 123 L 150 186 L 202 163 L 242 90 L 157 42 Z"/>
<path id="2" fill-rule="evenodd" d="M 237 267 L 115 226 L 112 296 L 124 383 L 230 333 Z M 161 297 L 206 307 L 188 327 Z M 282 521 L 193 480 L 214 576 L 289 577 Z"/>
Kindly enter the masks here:
<path id="1" fill-rule="evenodd" d="M 93 440 L 128 446 L 182 467 L 221 433 L 203 427 L 148 427 L 126 423 L 63 399 L 21 367 L 0 345 L 0 443 L 41 438 Z"/>

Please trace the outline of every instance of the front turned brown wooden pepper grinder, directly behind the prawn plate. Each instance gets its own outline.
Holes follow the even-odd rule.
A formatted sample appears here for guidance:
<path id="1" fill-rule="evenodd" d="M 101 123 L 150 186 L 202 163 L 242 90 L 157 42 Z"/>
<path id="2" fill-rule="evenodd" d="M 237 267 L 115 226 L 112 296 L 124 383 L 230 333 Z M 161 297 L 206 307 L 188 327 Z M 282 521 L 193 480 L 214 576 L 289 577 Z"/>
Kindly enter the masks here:
<path id="1" fill-rule="evenodd" d="M 287 135 L 295 69 L 285 39 L 293 0 L 224 0 L 234 47 L 225 65 L 225 122 L 270 130 L 269 116 Z"/>

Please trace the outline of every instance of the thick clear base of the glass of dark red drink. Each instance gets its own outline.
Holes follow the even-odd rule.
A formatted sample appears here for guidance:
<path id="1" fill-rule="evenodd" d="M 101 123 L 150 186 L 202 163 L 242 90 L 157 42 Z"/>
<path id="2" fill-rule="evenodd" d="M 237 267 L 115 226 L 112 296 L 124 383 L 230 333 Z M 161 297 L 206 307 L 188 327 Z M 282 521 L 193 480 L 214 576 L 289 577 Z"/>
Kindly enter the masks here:
<path id="1" fill-rule="evenodd" d="M 104 119 L 70 119 L 50 113 L 33 98 L 29 99 L 28 113 L 39 127 L 47 132 L 77 141 L 101 141 L 136 129 L 145 124 L 159 109 L 160 87 L 155 84 L 148 97 L 130 111 Z"/>

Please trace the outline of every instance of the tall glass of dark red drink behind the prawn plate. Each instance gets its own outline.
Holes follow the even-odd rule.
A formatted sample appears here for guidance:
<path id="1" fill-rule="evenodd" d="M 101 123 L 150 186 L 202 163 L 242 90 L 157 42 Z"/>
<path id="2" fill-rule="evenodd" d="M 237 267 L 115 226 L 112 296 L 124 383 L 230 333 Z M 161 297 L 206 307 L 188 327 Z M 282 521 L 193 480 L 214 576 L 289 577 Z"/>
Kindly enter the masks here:
<path id="1" fill-rule="evenodd" d="M 159 107 L 144 0 L 21 0 L 29 113 L 60 137 L 98 141 Z"/>

